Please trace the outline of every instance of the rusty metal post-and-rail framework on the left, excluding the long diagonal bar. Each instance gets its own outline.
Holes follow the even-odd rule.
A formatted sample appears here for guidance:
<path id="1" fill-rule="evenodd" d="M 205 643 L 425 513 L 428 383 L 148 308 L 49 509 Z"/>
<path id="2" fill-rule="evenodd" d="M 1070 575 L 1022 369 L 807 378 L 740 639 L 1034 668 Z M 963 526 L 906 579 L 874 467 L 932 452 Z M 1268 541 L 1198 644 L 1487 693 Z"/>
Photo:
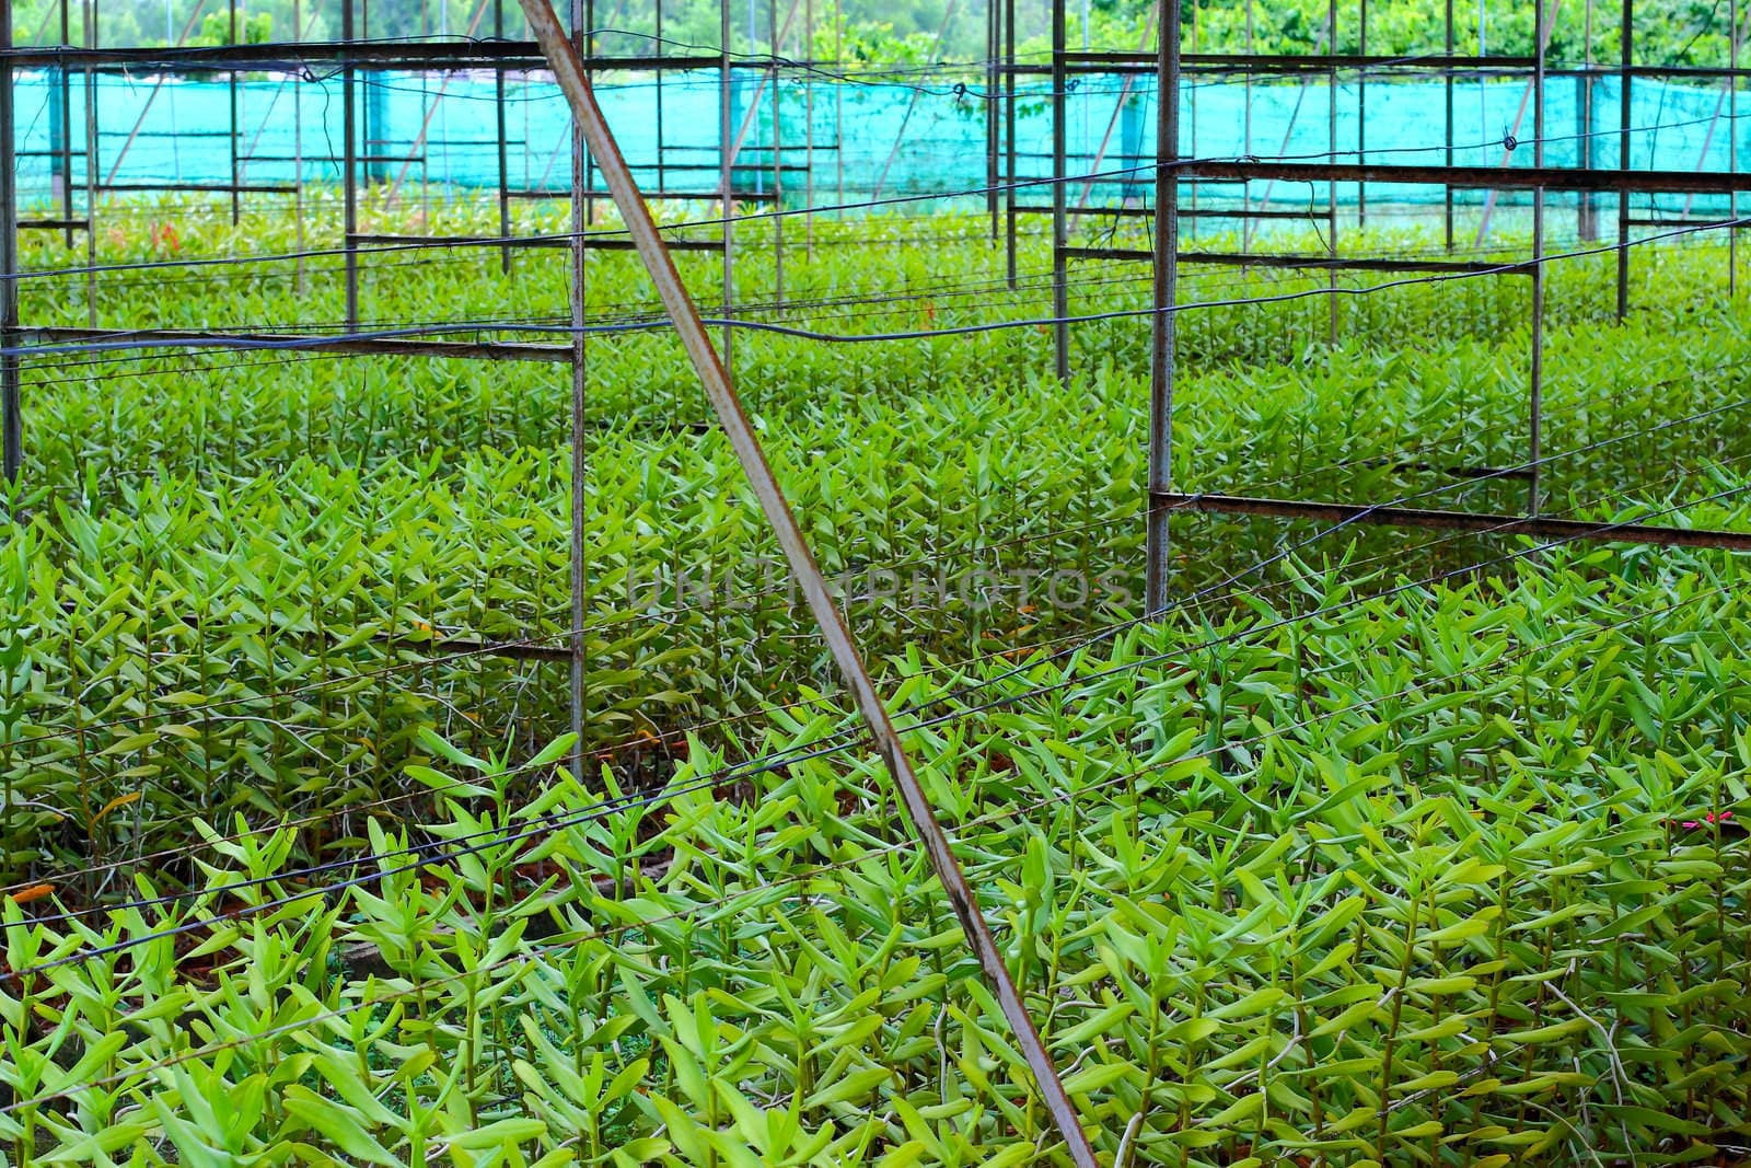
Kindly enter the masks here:
<path id="1" fill-rule="evenodd" d="M 392 70 L 418 70 L 418 72 L 440 72 L 454 74 L 457 70 L 492 70 L 494 89 L 497 96 L 497 117 L 496 117 L 496 152 L 497 152 L 497 187 L 496 200 L 499 207 L 499 231 L 496 242 L 501 252 L 501 263 L 506 273 L 511 271 L 513 252 L 525 247 L 564 247 L 571 254 L 571 277 L 573 277 L 573 322 L 581 327 L 583 324 L 583 287 L 585 273 L 590 250 L 625 250 L 634 243 L 625 238 L 602 238 L 601 235 L 590 233 L 592 208 L 599 194 L 595 187 L 595 166 L 592 165 L 590 152 L 585 149 L 583 138 L 578 137 L 576 130 L 569 135 L 571 140 L 571 175 L 567 187 L 564 191 L 548 189 L 515 189 L 510 182 L 508 168 L 508 124 L 504 116 L 506 107 L 506 77 L 513 72 L 546 72 L 550 68 L 550 60 L 543 53 L 541 46 L 534 40 L 508 40 L 504 39 L 504 5 L 506 0 L 480 0 L 476 9 L 475 25 L 483 18 L 487 5 L 494 11 L 494 39 L 492 40 L 475 40 L 471 37 L 461 40 L 443 40 L 443 42 L 392 42 L 380 44 L 368 40 L 369 37 L 369 0 L 341 0 L 340 4 L 340 21 L 341 21 L 341 39 L 333 42 L 312 42 L 305 40 L 298 28 L 298 9 L 294 7 L 294 39 L 289 42 L 275 44 L 238 44 L 238 0 L 226 0 L 228 28 L 231 44 L 226 46 L 201 46 L 186 47 L 189 35 L 194 30 L 196 19 L 200 19 L 207 0 L 200 0 L 173 47 L 98 47 L 96 32 L 96 4 L 98 0 L 77 0 L 82 4 L 84 12 L 84 44 L 72 44 L 70 37 L 70 11 L 75 0 L 61 0 L 61 44 L 56 47 L 14 47 L 12 46 L 12 23 L 11 19 L 0 19 L 0 58 L 4 67 L 0 67 L 0 478 L 5 483 L 19 483 L 23 478 L 23 455 L 25 455 L 25 424 L 23 424 L 23 403 L 21 403 L 21 371 L 23 359 L 16 348 L 25 343 L 67 343 L 67 341 L 119 341 L 121 338 L 133 338 L 142 343 L 166 343 L 166 341 L 184 341 L 198 343 L 214 348 L 249 348 L 259 345 L 264 340 L 275 343 L 263 334 L 254 338 L 238 338 L 236 334 L 228 334 L 222 331 L 201 333 L 201 331 L 175 331 L 175 329 L 100 329 L 96 327 L 96 296 L 91 299 L 91 320 L 84 329 L 74 327 L 56 327 L 56 329 L 25 329 L 19 320 L 18 306 L 18 280 L 14 278 L 19 271 L 18 259 L 18 233 L 21 229 L 47 229 L 63 231 L 67 235 L 68 245 L 72 243 L 74 233 L 84 233 L 86 236 L 86 256 L 88 268 L 93 266 L 89 261 L 95 254 L 95 233 L 98 226 L 98 205 L 100 198 L 110 193 L 191 193 L 191 194 L 226 194 L 231 203 L 231 221 L 233 224 L 242 217 L 242 196 L 243 194 L 291 194 L 294 198 L 294 207 L 298 207 L 299 233 L 303 229 L 303 166 L 305 163 L 340 163 L 340 186 L 341 186 L 341 217 L 343 217 L 343 259 L 345 259 L 345 327 L 348 336 L 340 338 L 292 338 L 291 334 L 280 336 L 280 341 L 298 341 L 301 347 L 334 352 L 334 354 L 354 354 L 354 355 L 403 355 L 403 357 L 448 357 L 462 361 L 545 361 L 545 362 L 562 362 L 569 364 L 573 369 L 573 452 L 574 452 L 574 478 L 573 478 L 573 520 L 571 520 L 571 595 L 573 595 L 573 623 L 574 632 L 569 637 L 569 648 L 564 650 L 564 657 L 571 664 L 571 723 L 573 730 L 583 730 L 587 716 L 587 695 L 585 695 L 585 639 L 583 629 L 583 597 L 585 597 L 585 546 L 583 546 L 583 459 L 587 447 L 587 424 L 585 424 L 585 399 L 587 399 L 587 366 L 585 366 L 585 341 L 581 333 L 574 333 L 573 340 L 564 345 L 553 343 L 517 343 L 517 341 L 454 341 L 454 340 L 366 340 L 354 336 L 359 333 L 361 326 L 361 277 L 362 277 L 362 259 L 373 247 L 455 247 L 455 245 L 476 245 L 487 240 L 473 236 L 434 236 L 434 235 L 382 235 L 368 233 L 359 228 L 359 207 L 364 194 L 361 180 L 389 180 L 389 166 L 397 165 L 399 170 L 394 175 L 389 189 L 399 187 L 408 168 L 417 161 L 424 161 L 420 156 L 420 147 L 427 140 L 427 130 L 436 112 L 436 100 L 425 107 L 420 131 L 413 140 L 413 149 L 406 154 L 387 152 L 387 138 L 383 128 L 375 124 L 369 116 L 371 102 L 366 100 L 366 117 L 359 117 L 359 89 L 366 86 L 369 95 L 369 86 L 375 79 L 385 72 Z M 585 49 L 585 61 L 590 70 L 637 70 L 641 74 L 650 74 L 660 79 L 669 72 L 678 70 L 716 70 L 720 74 L 720 100 L 723 105 L 721 116 L 721 138 L 718 142 L 721 168 L 718 170 L 716 184 L 700 184 L 702 189 L 671 189 L 664 186 L 667 179 L 676 170 L 688 172 L 697 170 L 686 165 L 674 165 L 664 159 L 664 140 L 662 128 L 658 124 L 657 133 L 657 165 L 658 165 L 658 187 L 653 191 L 655 196 L 665 200 L 683 200 L 683 201 L 707 201 L 721 208 L 723 228 L 718 240 L 672 240 L 669 247 L 674 250 L 711 250 L 721 254 L 723 263 L 723 312 L 728 315 L 734 306 L 734 233 L 730 221 L 735 214 L 737 203 L 749 201 L 776 201 L 783 198 L 783 179 L 784 170 L 783 147 L 774 140 L 770 152 L 770 172 L 772 187 L 769 191 L 742 191 L 732 186 L 732 170 L 735 151 L 744 147 L 742 137 L 748 133 L 748 124 L 758 110 L 760 93 L 756 91 L 753 100 L 748 103 L 746 117 L 742 119 L 741 130 L 734 130 L 734 93 L 735 82 L 734 75 L 748 70 L 760 70 L 763 79 L 776 79 L 777 75 L 777 54 L 783 49 L 783 33 L 774 23 L 772 30 L 772 63 L 744 63 L 732 56 L 730 53 L 730 4 L 732 0 L 720 0 L 721 9 L 721 28 L 723 28 L 723 46 L 720 53 L 713 54 L 665 54 L 662 53 L 660 26 L 662 26 L 662 0 L 657 0 L 657 25 L 658 25 L 658 53 L 655 56 L 602 56 L 594 54 L 594 32 L 587 33 L 580 44 Z M 791 5 L 795 11 L 795 4 Z M 574 0 L 571 11 L 571 23 L 578 30 L 594 30 L 594 0 Z M 809 35 L 812 35 L 812 4 L 809 9 Z M 473 33 L 475 28 L 469 28 Z M 252 184 L 247 182 L 245 165 L 250 161 L 249 152 L 240 149 L 243 138 L 242 109 L 238 100 L 238 77 L 243 70 L 282 70 L 282 72 L 303 72 L 312 65 L 340 67 L 341 75 L 341 158 L 324 158 L 320 154 L 306 154 L 301 145 L 301 137 L 298 138 L 296 149 L 296 170 L 294 182 L 285 184 Z M 14 128 L 16 128 L 16 109 L 14 109 L 14 74 L 19 68 L 53 68 L 56 77 L 56 93 L 51 98 L 51 110 L 60 116 L 60 142 L 54 154 L 54 168 L 61 177 L 61 186 L 56 194 L 61 200 L 61 214 L 58 219 L 21 219 L 19 217 L 19 196 L 16 189 L 16 161 L 19 152 L 16 149 Z M 154 68 L 159 72 L 159 79 L 147 96 L 145 109 L 138 119 L 130 128 L 117 158 L 109 168 L 107 177 L 102 175 L 102 156 L 98 151 L 100 144 L 100 112 L 96 95 L 98 77 L 105 74 L 124 74 L 128 70 Z M 74 151 L 72 135 L 68 131 L 72 121 L 72 103 L 70 103 L 70 86 L 72 75 L 75 72 L 82 74 L 82 84 L 86 89 L 84 102 L 84 147 L 82 151 Z M 145 123 L 145 114 L 151 110 L 159 89 L 168 75 L 191 75 L 191 77 L 212 77 L 222 75 L 228 82 L 228 107 L 229 107 L 229 131 L 228 154 L 231 180 L 226 184 L 187 184 L 175 180 L 159 180 L 149 184 L 128 184 L 116 182 L 116 175 L 121 170 L 121 163 L 126 158 L 128 149 L 142 133 Z M 282 82 L 284 88 L 284 82 Z M 443 89 L 440 88 L 438 98 L 441 100 Z M 774 84 L 774 102 L 776 102 L 776 84 Z M 294 117 L 298 102 L 294 98 Z M 375 135 L 375 137 L 373 137 Z M 734 135 L 734 137 L 732 137 Z M 364 147 L 361 151 L 361 145 Z M 755 147 L 748 147 L 753 151 Z M 812 165 L 816 144 L 812 126 L 805 135 L 804 149 L 807 151 L 807 161 Z M 72 173 L 74 158 L 84 161 L 84 214 L 75 215 L 74 196 L 72 196 Z M 284 159 L 275 159 L 284 161 Z M 742 168 L 760 170 L 758 166 Z M 362 173 L 361 173 L 362 172 Z M 811 187 L 812 189 L 812 187 Z M 571 240 L 529 240 L 511 236 L 511 200 L 513 198 L 567 198 L 571 205 Z M 779 247 L 783 242 L 779 240 Z M 303 261 L 299 259 L 299 264 Z M 95 280 L 95 271 L 91 280 Z M 95 284 L 93 284 L 95 287 Z M 725 357 L 728 357 L 728 329 L 725 329 Z M 492 643 L 480 643 L 482 651 L 490 655 L 503 655 L 510 658 L 529 657 L 527 646 L 508 644 L 494 646 Z M 545 651 L 543 658 L 555 660 L 560 653 Z M 585 762 L 585 751 L 578 749 L 574 756 L 574 767 L 580 770 Z"/>

